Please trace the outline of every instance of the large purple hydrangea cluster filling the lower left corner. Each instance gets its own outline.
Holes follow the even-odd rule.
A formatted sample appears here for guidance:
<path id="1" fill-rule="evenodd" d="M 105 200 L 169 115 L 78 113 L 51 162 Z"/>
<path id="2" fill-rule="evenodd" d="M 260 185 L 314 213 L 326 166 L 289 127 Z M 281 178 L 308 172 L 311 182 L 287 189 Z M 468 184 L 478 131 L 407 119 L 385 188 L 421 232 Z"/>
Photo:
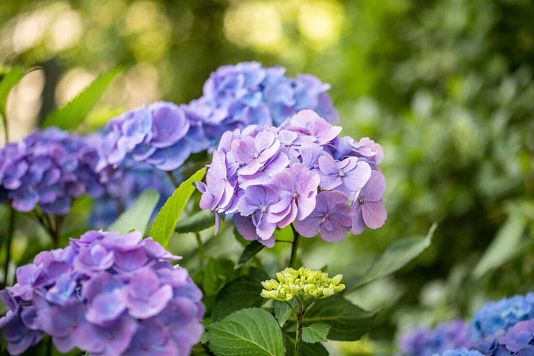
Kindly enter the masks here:
<path id="1" fill-rule="evenodd" d="M 58 351 L 95 355 L 189 355 L 203 332 L 202 292 L 178 260 L 139 231 L 88 231 L 65 249 L 39 253 L 0 292 L 7 350 L 44 334 Z"/>

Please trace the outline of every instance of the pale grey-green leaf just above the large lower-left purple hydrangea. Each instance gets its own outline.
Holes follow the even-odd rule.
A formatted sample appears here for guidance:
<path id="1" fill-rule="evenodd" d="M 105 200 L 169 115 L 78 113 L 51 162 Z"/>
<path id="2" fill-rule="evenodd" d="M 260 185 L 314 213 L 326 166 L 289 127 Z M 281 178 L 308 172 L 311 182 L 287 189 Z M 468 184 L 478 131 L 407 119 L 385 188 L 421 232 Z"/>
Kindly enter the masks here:
<path id="1" fill-rule="evenodd" d="M 159 200 L 160 194 L 157 191 L 153 189 L 143 191 L 128 210 L 107 228 L 107 231 L 119 231 L 122 235 L 131 230 L 138 230 L 144 234 Z"/>

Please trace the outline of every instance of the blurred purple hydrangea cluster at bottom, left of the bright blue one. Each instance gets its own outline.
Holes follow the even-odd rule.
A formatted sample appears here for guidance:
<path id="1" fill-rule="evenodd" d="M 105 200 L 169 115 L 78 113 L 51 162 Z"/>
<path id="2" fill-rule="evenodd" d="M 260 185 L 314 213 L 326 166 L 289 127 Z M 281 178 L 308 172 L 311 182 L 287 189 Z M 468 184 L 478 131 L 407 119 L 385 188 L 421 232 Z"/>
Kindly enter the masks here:
<path id="1" fill-rule="evenodd" d="M 439 323 L 432 330 L 415 329 L 399 340 L 399 349 L 405 356 L 428 356 L 470 345 L 468 324 L 465 320 Z M 458 355 L 463 356 L 462 353 Z"/>

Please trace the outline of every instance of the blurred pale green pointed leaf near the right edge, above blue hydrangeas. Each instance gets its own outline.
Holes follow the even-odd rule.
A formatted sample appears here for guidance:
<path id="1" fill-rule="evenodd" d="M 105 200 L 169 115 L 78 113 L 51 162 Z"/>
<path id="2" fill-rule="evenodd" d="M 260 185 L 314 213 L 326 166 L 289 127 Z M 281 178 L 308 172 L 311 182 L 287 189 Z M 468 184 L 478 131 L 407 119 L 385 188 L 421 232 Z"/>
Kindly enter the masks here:
<path id="1" fill-rule="evenodd" d="M 523 231 L 527 227 L 527 220 L 516 210 L 508 214 L 508 218 L 501 225 L 488 249 L 473 270 L 473 276 L 480 278 L 514 257 L 517 252 L 525 251 L 525 246 L 531 241 L 521 241 Z"/>

